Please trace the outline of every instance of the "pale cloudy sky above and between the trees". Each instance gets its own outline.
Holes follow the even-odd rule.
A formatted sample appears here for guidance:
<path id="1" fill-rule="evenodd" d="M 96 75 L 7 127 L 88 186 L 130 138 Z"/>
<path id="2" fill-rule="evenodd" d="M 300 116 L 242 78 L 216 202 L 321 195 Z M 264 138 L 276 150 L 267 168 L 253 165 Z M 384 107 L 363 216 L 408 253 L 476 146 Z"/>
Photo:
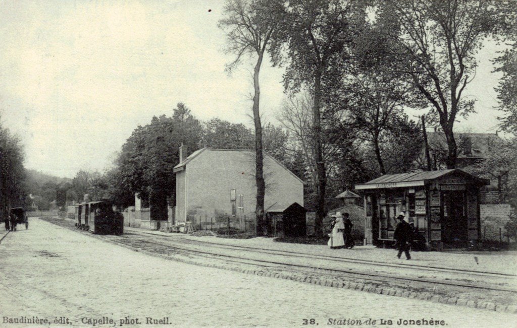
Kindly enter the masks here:
<path id="1" fill-rule="evenodd" d="M 0 115 L 20 137 L 25 167 L 59 177 L 110 167 L 138 125 L 178 102 L 200 120 L 252 127 L 252 60 L 231 76 L 219 0 L 0 0 Z M 458 130 L 495 133 L 500 75 L 487 43 L 464 92 L 477 114 Z M 261 111 L 276 122 L 282 68 L 261 70 Z M 411 112 L 422 114 L 423 112 Z"/>

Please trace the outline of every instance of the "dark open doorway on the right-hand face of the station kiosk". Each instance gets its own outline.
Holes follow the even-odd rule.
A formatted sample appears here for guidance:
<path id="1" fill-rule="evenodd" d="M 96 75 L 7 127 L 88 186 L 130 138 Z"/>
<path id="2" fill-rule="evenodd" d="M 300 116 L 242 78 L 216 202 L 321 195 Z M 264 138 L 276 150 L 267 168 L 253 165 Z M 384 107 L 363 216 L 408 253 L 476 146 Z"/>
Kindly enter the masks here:
<path id="1" fill-rule="evenodd" d="M 443 192 L 443 199 L 442 241 L 449 247 L 461 247 L 468 241 L 465 191 Z"/>

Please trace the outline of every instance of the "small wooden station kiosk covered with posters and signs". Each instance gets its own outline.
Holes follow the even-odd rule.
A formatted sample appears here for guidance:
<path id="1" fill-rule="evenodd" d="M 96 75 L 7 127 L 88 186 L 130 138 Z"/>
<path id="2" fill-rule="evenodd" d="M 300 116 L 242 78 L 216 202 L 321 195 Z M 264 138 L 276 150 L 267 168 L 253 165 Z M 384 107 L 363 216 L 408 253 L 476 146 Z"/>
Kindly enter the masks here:
<path id="1" fill-rule="evenodd" d="M 479 190 L 489 185 L 459 169 L 386 174 L 356 185 L 364 194 L 367 243 L 393 243 L 405 211 L 416 238 L 428 249 L 462 248 L 481 239 Z"/>

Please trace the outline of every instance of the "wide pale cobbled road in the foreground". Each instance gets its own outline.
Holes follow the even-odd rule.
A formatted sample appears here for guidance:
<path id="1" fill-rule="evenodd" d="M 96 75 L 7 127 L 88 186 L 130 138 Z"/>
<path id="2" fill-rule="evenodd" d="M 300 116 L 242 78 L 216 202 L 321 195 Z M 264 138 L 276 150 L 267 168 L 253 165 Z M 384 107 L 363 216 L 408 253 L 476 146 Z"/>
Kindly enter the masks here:
<path id="1" fill-rule="evenodd" d="M 381 319 L 398 326 L 399 318 L 433 318 L 450 327 L 515 327 L 517 322 L 515 315 L 494 311 L 177 263 L 37 219 L 29 230 L 3 240 L 0 268 L 2 327 L 21 316 L 50 321 L 63 316 L 74 326 L 92 326 L 88 318 L 103 317 L 117 326 L 125 317 L 139 319 L 141 326 L 146 317 L 168 317 L 182 326 L 303 326 L 303 319 L 322 326 L 332 318 L 372 318 L 373 326 L 382 327 L 387 325 L 380 325 Z"/>

